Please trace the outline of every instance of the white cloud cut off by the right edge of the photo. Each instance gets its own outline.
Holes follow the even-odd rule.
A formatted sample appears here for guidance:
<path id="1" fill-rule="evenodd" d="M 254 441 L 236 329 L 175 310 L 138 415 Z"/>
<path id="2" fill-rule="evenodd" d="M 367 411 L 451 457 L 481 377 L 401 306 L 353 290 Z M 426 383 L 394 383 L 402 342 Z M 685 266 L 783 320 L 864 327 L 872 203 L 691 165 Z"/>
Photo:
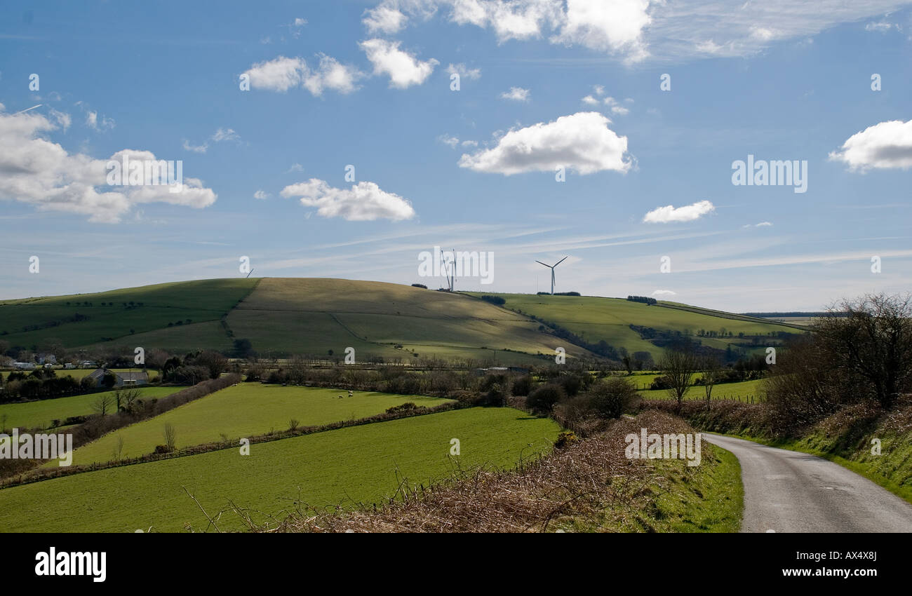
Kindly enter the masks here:
<path id="1" fill-rule="evenodd" d="M 889 120 L 856 132 L 830 159 L 851 170 L 912 168 L 912 120 Z"/>

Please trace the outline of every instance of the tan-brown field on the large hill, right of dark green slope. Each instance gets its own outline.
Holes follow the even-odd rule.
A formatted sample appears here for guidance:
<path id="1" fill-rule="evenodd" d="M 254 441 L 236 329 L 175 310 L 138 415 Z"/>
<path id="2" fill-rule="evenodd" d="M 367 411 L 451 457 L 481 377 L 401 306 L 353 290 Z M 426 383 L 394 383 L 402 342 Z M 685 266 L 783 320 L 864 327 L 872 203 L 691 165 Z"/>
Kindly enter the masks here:
<path id="1" fill-rule="evenodd" d="M 228 316 L 236 337 L 254 349 L 290 354 L 419 355 L 483 358 L 492 350 L 554 355 L 564 342 L 538 331 L 523 316 L 458 293 L 408 285 L 337 279 L 264 278 Z M 394 346 L 401 344 L 401 349 Z M 584 354 L 565 346 L 567 354 Z M 530 357 L 498 352 L 503 362 Z"/>

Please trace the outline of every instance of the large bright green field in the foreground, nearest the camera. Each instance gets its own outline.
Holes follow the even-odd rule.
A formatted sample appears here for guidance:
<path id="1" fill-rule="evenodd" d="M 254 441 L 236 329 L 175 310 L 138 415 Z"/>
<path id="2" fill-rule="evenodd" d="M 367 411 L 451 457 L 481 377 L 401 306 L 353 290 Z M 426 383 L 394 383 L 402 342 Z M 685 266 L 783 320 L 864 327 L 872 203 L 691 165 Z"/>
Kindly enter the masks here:
<path id="1" fill-rule="evenodd" d="M 250 447 L 109 468 L 0 489 L 0 530 L 9 532 L 180 531 L 206 520 L 181 487 L 214 516 L 229 499 L 281 518 L 300 498 L 313 506 L 378 502 L 400 476 L 411 483 L 446 478 L 451 438 L 461 467 L 513 467 L 547 451 L 559 427 L 512 408 L 471 408 L 352 426 Z M 254 519 L 264 520 L 259 514 Z M 232 514 L 222 529 L 242 529 Z"/>

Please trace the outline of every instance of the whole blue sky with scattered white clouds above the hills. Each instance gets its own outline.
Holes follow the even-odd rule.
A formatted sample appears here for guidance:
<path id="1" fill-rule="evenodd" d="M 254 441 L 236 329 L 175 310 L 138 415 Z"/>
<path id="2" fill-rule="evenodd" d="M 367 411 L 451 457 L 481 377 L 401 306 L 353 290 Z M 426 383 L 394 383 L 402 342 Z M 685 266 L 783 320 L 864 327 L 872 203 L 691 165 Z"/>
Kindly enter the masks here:
<path id="1" fill-rule="evenodd" d="M 5 2 L 0 297 L 241 256 L 440 287 L 435 245 L 493 253 L 461 290 L 544 291 L 568 256 L 558 292 L 736 312 L 906 292 L 912 8 L 795 4 Z M 189 188 L 108 187 L 124 152 Z M 806 161 L 806 191 L 733 185 L 748 155 Z"/>

